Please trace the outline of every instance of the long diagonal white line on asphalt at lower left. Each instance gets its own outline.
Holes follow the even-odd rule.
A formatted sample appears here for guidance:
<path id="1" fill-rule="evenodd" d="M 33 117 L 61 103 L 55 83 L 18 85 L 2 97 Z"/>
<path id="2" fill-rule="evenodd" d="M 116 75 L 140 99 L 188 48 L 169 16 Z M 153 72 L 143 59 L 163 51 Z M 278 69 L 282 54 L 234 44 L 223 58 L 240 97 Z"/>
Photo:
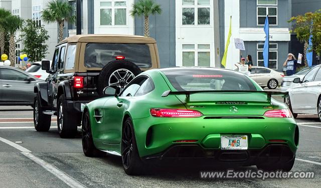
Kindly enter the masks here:
<path id="1" fill-rule="evenodd" d="M 77 181 L 76 179 L 74 179 L 73 177 L 68 175 L 67 173 L 61 171 L 60 169 L 58 169 L 54 165 L 46 162 L 45 160 L 33 155 L 31 153 L 31 150 L 29 150 L 21 145 L 18 145 L 17 143 L 14 143 L 8 139 L 5 139 L 3 137 L 0 137 L 0 141 L 3 141 L 5 143 L 7 143 L 8 145 L 11 145 L 11 146 L 15 147 L 16 149 L 20 150 L 23 155 L 25 155 L 29 159 L 33 160 L 37 164 L 40 164 L 42 167 L 44 167 L 50 173 L 54 174 L 56 177 L 58 177 L 60 180 L 62 180 L 64 183 L 66 183 L 70 187 L 72 187 L 72 188 L 86 188 L 86 186 L 84 184 Z"/>

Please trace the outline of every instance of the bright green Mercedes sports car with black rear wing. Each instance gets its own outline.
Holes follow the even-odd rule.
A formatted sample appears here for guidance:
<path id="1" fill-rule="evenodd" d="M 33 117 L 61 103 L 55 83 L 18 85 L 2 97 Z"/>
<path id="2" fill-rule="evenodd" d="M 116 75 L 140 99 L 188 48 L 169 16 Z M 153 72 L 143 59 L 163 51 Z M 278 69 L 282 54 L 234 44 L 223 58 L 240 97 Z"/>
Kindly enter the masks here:
<path id="1" fill-rule="evenodd" d="M 119 94 L 115 94 L 119 93 Z M 299 131 L 287 106 L 243 73 L 164 68 L 84 106 L 86 156 L 120 155 L 127 174 L 146 164 L 256 165 L 290 170 Z"/>

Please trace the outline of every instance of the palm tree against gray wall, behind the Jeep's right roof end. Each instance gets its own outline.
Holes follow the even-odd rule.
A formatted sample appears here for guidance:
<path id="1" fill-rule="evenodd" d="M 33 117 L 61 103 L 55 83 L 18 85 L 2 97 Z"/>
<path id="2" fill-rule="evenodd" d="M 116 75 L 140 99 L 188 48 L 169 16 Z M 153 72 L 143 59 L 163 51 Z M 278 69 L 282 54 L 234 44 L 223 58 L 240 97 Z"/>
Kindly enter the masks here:
<path id="1" fill-rule="evenodd" d="M 137 3 L 133 4 L 132 10 L 130 10 L 131 16 L 141 16 L 144 15 L 144 35 L 149 36 L 149 18 L 150 14 L 161 14 L 162 8 L 160 4 L 156 4 L 153 0 L 139 0 Z"/>

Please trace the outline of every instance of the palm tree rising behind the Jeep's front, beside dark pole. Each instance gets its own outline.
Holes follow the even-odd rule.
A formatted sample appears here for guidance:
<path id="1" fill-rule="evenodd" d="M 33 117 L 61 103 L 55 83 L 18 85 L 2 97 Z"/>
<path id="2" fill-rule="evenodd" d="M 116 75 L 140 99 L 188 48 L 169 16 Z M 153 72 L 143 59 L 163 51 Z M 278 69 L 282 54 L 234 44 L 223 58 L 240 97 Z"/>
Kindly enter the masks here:
<path id="1" fill-rule="evenodd" d="M 63 39 L 64 22 L 75 21 L 75 16 L 72 15 L 73 7 L 68 1 L 52 0 L 48 2 L 46 9 L 42 11 L 42 20 L 46 23 L 57 22 L 59 25 L 59 41 Z"/>

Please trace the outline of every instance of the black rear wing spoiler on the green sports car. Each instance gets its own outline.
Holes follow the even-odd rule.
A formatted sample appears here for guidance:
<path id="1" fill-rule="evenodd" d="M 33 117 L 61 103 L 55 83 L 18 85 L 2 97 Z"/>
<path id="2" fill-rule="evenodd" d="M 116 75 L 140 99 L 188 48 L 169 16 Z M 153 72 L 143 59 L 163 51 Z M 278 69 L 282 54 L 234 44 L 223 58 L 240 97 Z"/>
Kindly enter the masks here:
<path id="1" fill-rule="evenodd" d="M 193 91 L 171 91 L 167 90 L 164 91 L 162 94 L 162 97 L 166 97 L 170 94 L 185 94 L 186 98 L 185 101 L 190 101 L 190 95 L 194 93 L 253 93 L 253 92 L 259 92 L 259 93 L 265 93 L 267 95 L 267 100 L 271 101 L 272 95 L 274 96 L 282 96 L 283 98 L 288 95 L 288 92 L 279 92 L 279 91 L 263 91 L 263 90 L 193 90 Z"/>

